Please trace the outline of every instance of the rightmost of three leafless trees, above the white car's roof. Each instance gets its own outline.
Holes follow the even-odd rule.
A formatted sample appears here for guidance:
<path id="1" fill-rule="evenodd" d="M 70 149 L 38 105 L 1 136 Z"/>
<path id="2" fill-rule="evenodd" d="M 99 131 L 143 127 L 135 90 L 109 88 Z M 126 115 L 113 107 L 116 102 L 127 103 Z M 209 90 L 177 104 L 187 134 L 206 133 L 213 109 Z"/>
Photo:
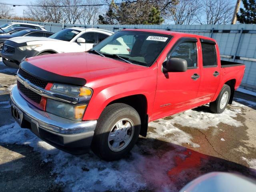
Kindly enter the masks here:
<path id="1" fill-rule="evenodd" d="M 99 0 L 87 0 L 86 5 L 100 4 Z M 80 24 L 96 24 L 101 12 L 100 6 L 84 6 L 83 12 L 79 18 Z"/>

